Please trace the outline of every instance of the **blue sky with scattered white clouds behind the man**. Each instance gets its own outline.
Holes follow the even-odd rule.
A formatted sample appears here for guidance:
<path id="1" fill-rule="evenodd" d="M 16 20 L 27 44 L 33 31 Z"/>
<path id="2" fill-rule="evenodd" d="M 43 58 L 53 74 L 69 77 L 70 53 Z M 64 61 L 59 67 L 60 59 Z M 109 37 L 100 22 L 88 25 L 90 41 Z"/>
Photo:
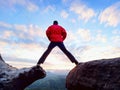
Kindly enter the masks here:
<path id="1" fill-rule="evenodd" d="M 0 0 L 0 53 L 17 68 L 32 67 L 47 49 L 47 28 L 57 20 L 64 44 L 79 62 L 120 57 L 119 0 Z M 75 64 L 55 47 L 44 69 Z"/>

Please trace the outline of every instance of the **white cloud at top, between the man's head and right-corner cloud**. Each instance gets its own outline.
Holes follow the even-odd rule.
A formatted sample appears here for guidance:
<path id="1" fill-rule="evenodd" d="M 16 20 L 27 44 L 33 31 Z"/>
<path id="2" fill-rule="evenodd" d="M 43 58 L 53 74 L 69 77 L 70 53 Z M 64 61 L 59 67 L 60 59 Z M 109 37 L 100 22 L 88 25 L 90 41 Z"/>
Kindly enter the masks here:
<path id="1" fill-rule="evenodd" d="M 95 16 L 94 10 L 81 2 L 73 2 L 70 11 L 78 14 L 79 19 L 84 20 L 85 22 Z"/>

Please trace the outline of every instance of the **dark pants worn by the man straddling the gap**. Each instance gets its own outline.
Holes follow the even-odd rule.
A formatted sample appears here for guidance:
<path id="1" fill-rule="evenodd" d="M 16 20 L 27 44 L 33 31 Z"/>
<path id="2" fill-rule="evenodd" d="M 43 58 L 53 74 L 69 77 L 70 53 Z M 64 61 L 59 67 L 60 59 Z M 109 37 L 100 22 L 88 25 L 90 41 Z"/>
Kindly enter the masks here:
<path id="1" fill-rule="evenodd" d="M 51 50 L 55 47 L 58 46 L 66 55 L 67 57 L 70 59 L 71 62 L 76 63 L 77 60 L 74 58 L 74 56 L 65 48 L 63 42 L 51 42 L 47 48 L 47 50 L 44 52 L 44 54 L 42 55 L 42 57 L 39 59 L 37 64 L 41 64 L 44 63 L 46 57 L 49 55 L 49 53 L 51 52 Z"/>

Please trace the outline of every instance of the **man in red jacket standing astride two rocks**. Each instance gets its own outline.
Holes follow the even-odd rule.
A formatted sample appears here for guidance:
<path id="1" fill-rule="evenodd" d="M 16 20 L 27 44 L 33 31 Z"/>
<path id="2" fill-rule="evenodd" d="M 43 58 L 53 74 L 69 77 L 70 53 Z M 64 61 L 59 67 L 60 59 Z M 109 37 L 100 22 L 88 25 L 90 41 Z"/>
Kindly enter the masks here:
<path id="1" fill-rule="evenodd" d="M 47 48 L 47 50 L 44 52 L 42 57 L 39 59 L 37 65 L 40 65 L 41 63 L 44 63 L 46 57 L 49 55 L 51 50 L 58 46 L 70 59 L 72 63 L 78 64 L 78 61 L 74 58 L 74 56 L 65 48 L 63 41 L 65 40 L 67 33 L 65 29 L 58 25 L 58 21 L 53 21 L 53 25 L 49 26 L 46 35 L 48 39 L 50 40 L 50 44 Z"/>

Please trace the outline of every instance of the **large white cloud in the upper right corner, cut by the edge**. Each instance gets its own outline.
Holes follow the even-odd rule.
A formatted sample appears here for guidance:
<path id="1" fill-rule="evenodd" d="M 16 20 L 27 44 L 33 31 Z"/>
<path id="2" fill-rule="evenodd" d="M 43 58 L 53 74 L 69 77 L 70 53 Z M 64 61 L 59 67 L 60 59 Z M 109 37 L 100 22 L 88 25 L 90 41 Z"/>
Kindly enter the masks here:
<path id="1" fill-rule="evenodd" d="M 120 2 L 113 4 L 101 12 L 99 16 L 100 23 L 105 23 L 107 26 L 116 27 L 120 24 Z"/>

